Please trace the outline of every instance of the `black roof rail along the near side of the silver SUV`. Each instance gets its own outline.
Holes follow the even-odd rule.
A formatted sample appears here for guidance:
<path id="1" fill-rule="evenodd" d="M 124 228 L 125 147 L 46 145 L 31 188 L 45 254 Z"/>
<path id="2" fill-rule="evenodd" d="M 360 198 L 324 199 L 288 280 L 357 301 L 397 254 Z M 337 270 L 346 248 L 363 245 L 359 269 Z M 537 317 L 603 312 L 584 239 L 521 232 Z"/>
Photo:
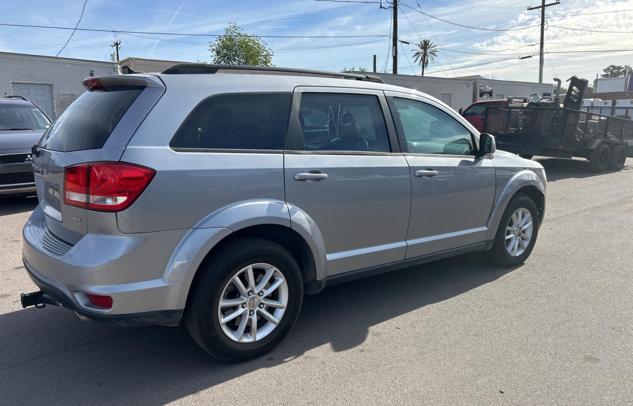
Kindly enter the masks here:
<path id="1" fill-rule="evenodd" d="M 246 65 L 213 65 L 211 63 L 179 63 L 162 71 L 163 75 L 194 75 L 216 73 L 218 70 L 243 70 L 279 73 L 298 73 L 301 75 L 338 77 L 354 80 L 368 80 L 370 82 L 384 83 L 381 78 L 372 75 L 360 75 L 348 72 L 330 72 L 325 70 L 278 68 L 277 66 L 246 66 Z"/>

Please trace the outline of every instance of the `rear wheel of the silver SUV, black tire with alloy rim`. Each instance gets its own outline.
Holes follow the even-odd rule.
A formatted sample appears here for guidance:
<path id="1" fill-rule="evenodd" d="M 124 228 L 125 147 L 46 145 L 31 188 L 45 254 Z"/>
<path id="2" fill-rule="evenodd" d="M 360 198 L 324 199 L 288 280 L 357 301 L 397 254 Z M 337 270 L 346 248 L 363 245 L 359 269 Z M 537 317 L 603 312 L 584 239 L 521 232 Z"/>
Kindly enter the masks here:
<path id="1" fill-rule="evenodd" d="M 279 244 L 241 238 L 199 269 L 185 309 L 192 338 L 232 362 L 265 354 L 287 335 L 303 301 L 297 262 Z"/>

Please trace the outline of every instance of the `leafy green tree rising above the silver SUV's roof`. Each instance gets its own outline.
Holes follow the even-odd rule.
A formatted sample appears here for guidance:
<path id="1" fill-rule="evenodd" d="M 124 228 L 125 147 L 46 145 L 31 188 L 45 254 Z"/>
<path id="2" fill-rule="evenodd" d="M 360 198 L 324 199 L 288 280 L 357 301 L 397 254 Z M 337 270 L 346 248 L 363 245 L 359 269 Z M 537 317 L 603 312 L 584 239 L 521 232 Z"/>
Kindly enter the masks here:
<path id="1" fill-rule="evenodd" d="M 235 23 L 230 23 L 224 28 L 224 35 L 209 43 L 209 51 L 213 63 L 218 65 L 272 66 L 273 50 L 268 44 Z"/>

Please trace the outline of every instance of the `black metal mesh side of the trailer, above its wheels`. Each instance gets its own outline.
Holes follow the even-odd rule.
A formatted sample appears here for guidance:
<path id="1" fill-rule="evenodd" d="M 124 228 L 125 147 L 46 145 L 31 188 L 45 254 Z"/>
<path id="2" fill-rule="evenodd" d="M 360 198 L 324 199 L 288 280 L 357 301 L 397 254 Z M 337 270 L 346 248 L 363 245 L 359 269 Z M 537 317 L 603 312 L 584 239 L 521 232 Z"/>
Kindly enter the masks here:
<path id="1" fill-rule="evenodd" d="M 568 108 L 486 108 L 484 132 L 576 141 L 621 140 L 633 146 L 633 120 Z"/>

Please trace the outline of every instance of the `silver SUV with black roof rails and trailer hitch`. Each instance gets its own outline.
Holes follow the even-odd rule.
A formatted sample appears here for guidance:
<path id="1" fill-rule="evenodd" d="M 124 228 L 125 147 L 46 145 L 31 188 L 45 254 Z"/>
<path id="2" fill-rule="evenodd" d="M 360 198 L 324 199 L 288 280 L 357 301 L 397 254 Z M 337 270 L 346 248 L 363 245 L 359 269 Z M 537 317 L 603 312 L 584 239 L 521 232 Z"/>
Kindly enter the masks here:
<path id="1" fill-rule="evenodd" d="M 211 355 L 246 360 L 304 293 L 474 250 L 515 266 L 536 243 L 542 166 L 415 90 L 204 64 L 84 85 L 34 157 L 23 259 L 41 291 L 24 307 L 184 319 Z"/>

